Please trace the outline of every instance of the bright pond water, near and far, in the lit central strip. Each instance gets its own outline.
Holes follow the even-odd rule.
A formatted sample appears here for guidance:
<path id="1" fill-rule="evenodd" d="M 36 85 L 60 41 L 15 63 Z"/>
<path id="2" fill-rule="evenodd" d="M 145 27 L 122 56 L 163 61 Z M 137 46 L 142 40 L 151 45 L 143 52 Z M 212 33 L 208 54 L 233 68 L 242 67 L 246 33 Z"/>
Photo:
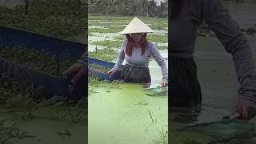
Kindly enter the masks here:
<path id="1" fill-rule="evenodd" d="M 93 18 L 93 16 L 90 16 Z M 120 19 L 111 17 L 115 24 Z M 132 19 L 126 17 L 125 19 Z M 157 18 L 156 18 L 157 19 Z M 90 28 L 103 30 L 102 26 L 96 24 L 106 24 L 106 22 L 89 19 Z M 93 23 L 94 22 L 94 23 Z M 119 22 L 122 29 L 125 27 L 124 21 Z M 130 21 L 127 21 L 128 24 Z M 154 19 L 147 21 L 153 22 Z M 125 24 L 126 24 L 125 23 Z M 158 22 L 157 22 L 158 24 Z M 114 29 L 114 27 L 112 27 Z M 111 29 L 110 29 L 111 30 Z M 109 46 L 97 46 L 98 50 L 114 49 L 114 58 L 110 62 L 115 62 L 118 57 L 119 45 L 122 40 L 116 33 L 91 33 L 89 34 L 89 51 L 95 51 L 92 42 L 108 41 Z M 155 34 L 166 34 L 167 30 L 157 30 Z M 118 38 L 118 39 L 117 39 Z M 124 38 L 123 38 L 124 39 Z M 112 43 L 111 43 L 112 42 Z M 119 44 L 120 43 L 120 44 Z M 158 42 L 159 44 L 161 42 Z M 162 43 L 161 43 L 162 44 Z M 166 43 L 162 45 L 166 46 Z M 167 50 L 159 50 L 162 57 L 167 59 Z M 109 54 L 109 53 L 108 53 Z M 89 54 L 90 56 L 90 54 Z M 166 60 L 168 65 L 168 62 Z M 123 63 L 125 64 L 125 62 Z M 157 62 L 150 60 L 151 87 L 159 86 L 162 81 L 162 72 Z M 168 143 L 168 97 L 167 94 L 158 96 L 148 95 L 148 91 L 140 84 L 118 83 L 118 88 L 109 88 L 111 83 L 102 82 L 99 86 L 94 86 L 89 82 L 89 87 L 94 92 L 88 97 L 88 137 L 89 143 L 139 143 L 139 144 L 167 144 Z M 167 89 L 166 89 L 167 90 Z"/>

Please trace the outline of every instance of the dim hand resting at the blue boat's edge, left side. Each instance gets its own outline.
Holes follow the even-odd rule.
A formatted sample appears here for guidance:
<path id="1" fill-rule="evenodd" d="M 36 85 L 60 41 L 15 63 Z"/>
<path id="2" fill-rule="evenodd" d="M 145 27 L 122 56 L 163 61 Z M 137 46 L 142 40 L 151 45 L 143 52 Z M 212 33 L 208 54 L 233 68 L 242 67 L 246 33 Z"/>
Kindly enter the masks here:
<path id="1" fill-rule="evenodd" d="M 63 72 L 64 76 L 69 76 L 70 74 L 74 74 L 74 77 L 71 79 L 71 83 L 78 82 L 82 76 L 86 74 L 86 66 L 82 63 L 76 63 L 73 66 L 70 66 L 69 69 Z"/>

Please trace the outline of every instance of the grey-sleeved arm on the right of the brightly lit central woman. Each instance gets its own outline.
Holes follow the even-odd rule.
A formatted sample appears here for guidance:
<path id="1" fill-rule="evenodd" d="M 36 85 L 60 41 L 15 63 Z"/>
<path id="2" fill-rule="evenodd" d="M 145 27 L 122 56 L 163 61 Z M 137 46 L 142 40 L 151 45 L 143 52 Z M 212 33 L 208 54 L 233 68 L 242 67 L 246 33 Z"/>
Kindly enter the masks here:
<path id="1" fill-rule="evenodd" d="M 158 62 L 158 66 L 161 66 L 162 70 L 162 80 L 168 82 L 168 69 L 165 60 L 162 58 L 161 54 L 158 52 L 156 46 L 150 43 L 151 55 L 154 57 L 155 61 Z"/>

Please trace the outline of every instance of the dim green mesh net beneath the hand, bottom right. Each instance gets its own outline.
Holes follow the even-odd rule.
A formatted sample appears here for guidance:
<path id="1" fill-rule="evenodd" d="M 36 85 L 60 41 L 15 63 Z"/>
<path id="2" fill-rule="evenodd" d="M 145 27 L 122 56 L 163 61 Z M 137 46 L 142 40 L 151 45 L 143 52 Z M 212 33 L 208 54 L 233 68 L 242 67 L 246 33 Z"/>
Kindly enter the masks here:
<path id="1" fill-rule="evenodd" d="M 171 130 L 171 144 L 214 144 L 254 133 L 255 124 L 242 120 L 222 120 Z"/>

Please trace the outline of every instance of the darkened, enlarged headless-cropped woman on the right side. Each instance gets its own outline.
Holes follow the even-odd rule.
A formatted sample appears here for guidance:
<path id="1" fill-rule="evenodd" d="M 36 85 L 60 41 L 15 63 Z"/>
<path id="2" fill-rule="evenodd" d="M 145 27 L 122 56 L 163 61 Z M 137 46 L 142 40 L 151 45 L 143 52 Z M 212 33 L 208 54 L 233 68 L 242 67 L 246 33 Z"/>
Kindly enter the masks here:
<path id="1" fill-rule="evenodd" d="M 232 54 L 238 75 L 237 111 L 242 118 L 256 114 L 256 70 L 246 37 L 222 0 L 172 0 L 170 14 L 170 106 L 198 106 L 202 94 L 193 59 L 198 26 L 205 21 Z"/>

